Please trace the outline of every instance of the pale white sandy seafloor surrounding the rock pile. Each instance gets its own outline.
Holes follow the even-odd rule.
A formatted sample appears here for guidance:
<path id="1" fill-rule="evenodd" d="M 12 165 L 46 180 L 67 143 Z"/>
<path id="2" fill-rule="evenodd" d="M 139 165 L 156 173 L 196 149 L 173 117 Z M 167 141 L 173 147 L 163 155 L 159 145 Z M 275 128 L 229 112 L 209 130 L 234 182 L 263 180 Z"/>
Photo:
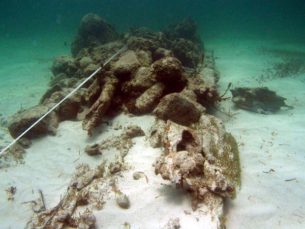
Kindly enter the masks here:
<path id="1" fill-rule="evenodd" d="M 20 108 L 20 103 L 23 108 L 38 104 L 48 88 L 52 59 L 70 52 L 69 47 L 63 45 L 69 38 L 50 39 L 50 36 L 42 36 L 35 38 L 34 42 L 33 38 L 4 38 L 0 43 L 1 113 L 9 117 Z M 286 103 L 295 107 L 267 116 L 238 109 L 231 101 L 221 102 L 220 107 L 238 112 L 235 119 L 228 119 L 210 109 L 213 115 L 223 119 L 226 130 L 241 145 L 242 186 L 236 199 L 226 201 L 226 228 L 304 228 L 305 83 L 301 79 L 305 75 L 258 83 L 252 76 L 260 76 L 262 69 L 266 68 L 266 61 L 270 60 L 269 56 L 256 51 L 262 45 L 305 50 L 300 45 L 262 40 L 205 41 L 207 53 L 214 50 L 218 58 L 220 94 L 229 82 L 234 87 L 263 85 L 286 97 Z M 119 122 L 123 126 L 137 124 L 147 131 L 154 117 L 120 115 L 110 122 Z M 31 204 L 21 203 L 37 199 L 38 189 L 44 193 L 47 208 L 57 205 L 77 164 L 88 163 L 93 168 L 104 157 L 111 161 L 118 154 L 108 151 L 102 156 L 90 157 L 84 153 L 84 147 L 120 132 L 103 124 L 95 131 L 94 137 L 89 138 L 81 128 L 81 121 L 73 120 L 60 123 L 56 136 L 33 140 L 33 146 L 26 150 L 24 164 L 0 170 L 0 228 L 25 226 L 33 213 Z M 7 145 L 4 141 L 12 140 L 5 132 L 1 132 L 1 137 L 0 145 Z M 124 228 L 124 222 L 129 222 L 131 228 L 162 228 L 169 219 L 175 218 L 180 219 L 181 228 L 215 228 L 215 223 L 204 217 L 204 206 L 193 212 L 191 196 L 185 190 L 176 190 L 170 182 L 155 176 L 152 164 L 162 154 L 162 149 L 148 147 L 144 138 L 133 139 L 136 145 L 125 158 L 133 168 L 123 172 L 123 177 L 117 180 L 118 188 L 130 197 L 131 208 L 119 208 L 114 193 L 111 193 L 105 199 L 104 208 L 95 211 L 97 228 Z M 144 172 L 149 182 L 133 180 L 134 171 Z M 5 189 L 11 186 L 17 187 L 15 199 L 7 201 Z M 79 208 L 80 212 L 85 208 Z"/>

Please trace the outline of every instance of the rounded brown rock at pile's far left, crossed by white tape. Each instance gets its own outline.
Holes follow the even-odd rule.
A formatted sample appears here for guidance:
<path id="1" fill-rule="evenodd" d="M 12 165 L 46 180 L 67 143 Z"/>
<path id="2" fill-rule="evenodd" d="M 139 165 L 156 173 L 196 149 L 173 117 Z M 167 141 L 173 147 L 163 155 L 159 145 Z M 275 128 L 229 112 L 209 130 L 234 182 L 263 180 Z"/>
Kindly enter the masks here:
<path id="1" fill-rule="evenodd" d="M 11 136 L 13 138 L 18 137 L 23 131 L 40 119 L 48 110 L 49 108 L 46 106 L 35 106 L 20 114 L 14 115 L 8 126 Z M 24 137 L 33 139 L 46 134 L 55 135 L 57 126 L 58 118 L 55 112 L 52 111 L 31 130 L 29 130 Z"/>

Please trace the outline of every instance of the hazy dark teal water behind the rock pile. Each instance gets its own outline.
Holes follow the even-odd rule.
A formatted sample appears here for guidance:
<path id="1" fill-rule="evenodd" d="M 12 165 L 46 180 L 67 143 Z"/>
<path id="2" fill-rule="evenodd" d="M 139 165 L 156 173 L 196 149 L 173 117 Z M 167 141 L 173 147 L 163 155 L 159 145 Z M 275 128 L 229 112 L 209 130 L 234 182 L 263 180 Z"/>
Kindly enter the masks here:
<path id="1" fill-rule="evenodd" d="M 81 18 L 96 13 L 115 24 L 119 32 L 132 26 L 163 30 L 174 21 L 191 17 L 197 21 L 203 40 L 245 37 L 305 42 L 303 0 L 2 0 L 0 9 L 1 37 L 75 34 Z"/>

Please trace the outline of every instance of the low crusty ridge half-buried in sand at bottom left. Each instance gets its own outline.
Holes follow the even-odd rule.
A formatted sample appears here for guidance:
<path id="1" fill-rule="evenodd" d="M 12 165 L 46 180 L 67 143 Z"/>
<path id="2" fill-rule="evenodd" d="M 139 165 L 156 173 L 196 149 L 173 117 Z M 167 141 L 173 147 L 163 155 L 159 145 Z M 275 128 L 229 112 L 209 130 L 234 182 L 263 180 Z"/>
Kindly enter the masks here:
<path id="1" fill-rule="evenodd" d="M 103 208 L 104 196 L 110 193 L 111 186 L 114 185 L 111 177 L 103 177 L 104 166 L 104 162 L 94 169 L 90 169 L 87 164 L 78 165 L 68 190 L 60 198 L 58 205 L 48 210 L 39 210 L 39 213 L 36 212 L 25 228 L 95 228 L 96 217 L 91 210 L 87 208 L 77 216 L 75 213 L 78 206 L 82 205 L 89 204 L 97 210 Z M 35 206 L 43 203 L 42 198 L 41 195 Z"/>

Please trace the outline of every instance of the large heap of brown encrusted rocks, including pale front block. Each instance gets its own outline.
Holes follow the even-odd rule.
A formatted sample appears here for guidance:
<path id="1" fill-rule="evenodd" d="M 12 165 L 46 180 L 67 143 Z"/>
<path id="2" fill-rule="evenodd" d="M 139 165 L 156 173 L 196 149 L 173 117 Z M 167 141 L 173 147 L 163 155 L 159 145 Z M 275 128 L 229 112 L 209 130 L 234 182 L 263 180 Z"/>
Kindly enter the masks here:
<path id="1" fill-rule="evenodd" d="M 83 106 L 89 109 L 82 127 L 90 136 L 105 115 L 153 113 L 157 120 L 148 138 L 153 147 L 165 148 L 156 162 L 156 175 L 161 174 L 178 188 L 186 182 L 194 196 L 194 210 L 203 199 L 222 209 L 222 199 L 233 197 L 240 184 L 238 149 L 223 123 L 206 114 L 209 106 L 220 101 L 218 74 L 212 62 L 200 60 L 200 56 L 204 58 L 200 53 L 203 43 L 189 19 L 165 32 L 140 28 L 119 36 L 114 26 L 98 15 L 84 16 L 72 43 L 73 57 L 54 60 L 52 88 L 40 106 L 10 123 L 12 136 L 30 126 L 125 43 L 125 51 L 26 136 L 55 134 L 58 122 L 76 118 Z M 195 70 L 198 63 L 204 63 L 200 73 Z M 28 117 L 34 113 L 35 118 Z"/>

